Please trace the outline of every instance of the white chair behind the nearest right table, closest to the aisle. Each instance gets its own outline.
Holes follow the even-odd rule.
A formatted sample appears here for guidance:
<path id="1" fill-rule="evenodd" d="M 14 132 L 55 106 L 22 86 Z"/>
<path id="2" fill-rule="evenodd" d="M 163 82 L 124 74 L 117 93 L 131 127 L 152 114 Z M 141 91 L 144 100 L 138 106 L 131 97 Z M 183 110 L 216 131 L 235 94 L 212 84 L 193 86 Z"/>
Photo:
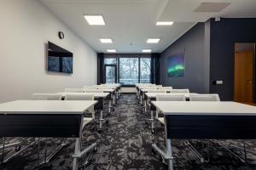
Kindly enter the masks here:
<path id="1" fill-rule="evenodd" d="M 156 95 L 156 101 L 186 101 L 186 97 L 184 94 L 159 94 Z M 164 117 L 159 117 L 159 112 L 156 110 L 155 119 L 157 119 L 159 122 L 165 124 Z M 152 113 L 153 116 L 153 113 Z"/>

